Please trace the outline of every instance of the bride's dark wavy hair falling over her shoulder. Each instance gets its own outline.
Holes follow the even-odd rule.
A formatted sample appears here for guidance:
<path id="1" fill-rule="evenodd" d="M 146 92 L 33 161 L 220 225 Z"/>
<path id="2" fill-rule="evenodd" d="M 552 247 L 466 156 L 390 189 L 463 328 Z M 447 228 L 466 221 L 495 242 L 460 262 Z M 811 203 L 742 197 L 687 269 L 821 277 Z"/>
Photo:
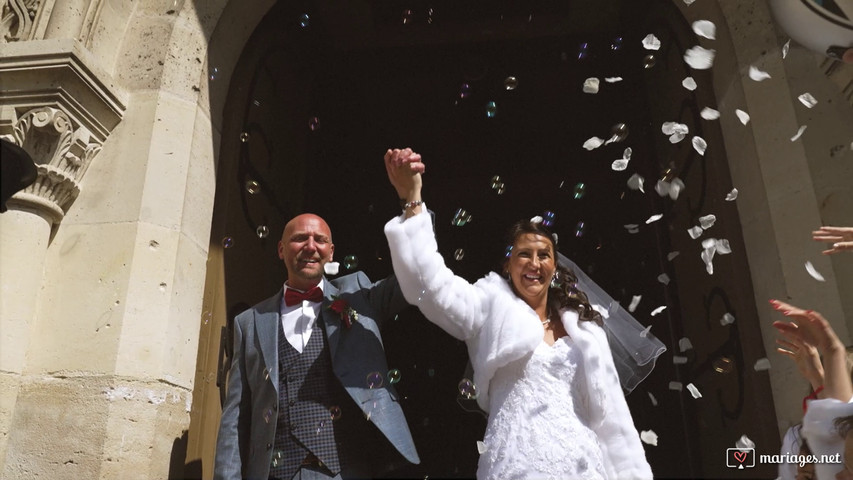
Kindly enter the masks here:
<path id="1" fill-rule="evenodd" d="M 578 278 L 575 273 L 557 263 L 556 235 L 554 235 L 551 229 L 543 225 L 542 222 L 519 220 L 509 227 L 506 237 L 508 245 L 506 249 L 506 258 L 503 261 L 504 273 L 507 271 L 507 263 L 509 262 L 510 255 L 512 254 L 513 245 L 515 245 L 518 237 L 526 233 L 541 235 L 547 238 L 551 242 L 551 247 L 554 249 L 554 263 L 557 265 L 557 270 L 555 272 L 555 278 L 548 289 L 549 316 L 559 309 L 571 308 L 577 310 L 580 320 L 593 321 L 602 325 L 603 320 L 601 315 L 593 310 L 592 306 L 589 304 L 589 299 L 587 298 L 586 293 L 578 289 Z M 511 279 L 510 286 L 513 291 L 515 291 L 515 286 L 512 285 Z"/>

